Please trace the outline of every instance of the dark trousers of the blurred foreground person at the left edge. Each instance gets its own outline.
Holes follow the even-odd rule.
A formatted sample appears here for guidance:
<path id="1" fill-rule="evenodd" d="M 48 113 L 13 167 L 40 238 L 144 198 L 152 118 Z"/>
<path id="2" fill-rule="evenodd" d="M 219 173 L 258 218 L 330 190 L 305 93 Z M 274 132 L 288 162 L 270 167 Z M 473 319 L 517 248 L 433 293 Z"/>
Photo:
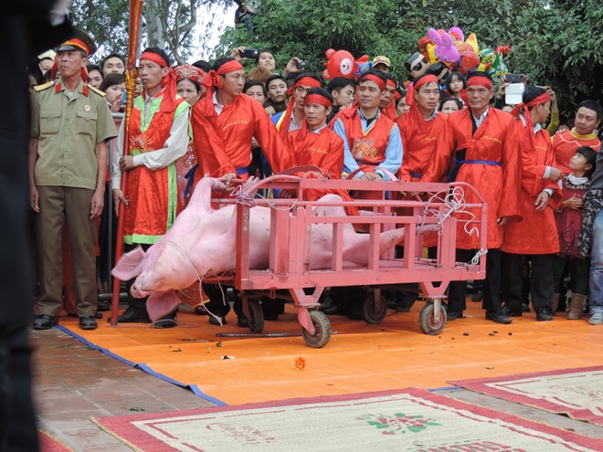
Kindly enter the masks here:
<path id="1" fill-rule="evenodd" d="M 37 452 L 27 323 L 0 324 L 0 451 Z"/>

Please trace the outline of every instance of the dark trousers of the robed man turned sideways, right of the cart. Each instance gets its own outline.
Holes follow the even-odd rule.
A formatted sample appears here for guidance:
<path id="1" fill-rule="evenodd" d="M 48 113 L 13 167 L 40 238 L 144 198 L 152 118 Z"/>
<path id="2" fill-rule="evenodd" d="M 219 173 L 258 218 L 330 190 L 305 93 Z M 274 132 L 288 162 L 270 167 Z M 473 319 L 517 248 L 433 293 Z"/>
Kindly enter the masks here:
<path id="1" fill-rule="evenodd" d="M 503 287 L 505 306 L 513 312 L 522 311 L 522 259 L 521 254 L 503 253 Z M 553 254 L 530 255 L 530 297 L 537 312 L 541 308 L 551 308 L 555 277 Z"/>

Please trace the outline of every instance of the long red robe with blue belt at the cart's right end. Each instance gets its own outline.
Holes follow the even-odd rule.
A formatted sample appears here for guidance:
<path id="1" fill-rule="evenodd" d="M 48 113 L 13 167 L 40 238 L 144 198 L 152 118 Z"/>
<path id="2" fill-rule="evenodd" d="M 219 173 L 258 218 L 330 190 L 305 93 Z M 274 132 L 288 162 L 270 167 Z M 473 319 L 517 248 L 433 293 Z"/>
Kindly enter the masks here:
<path id="1" fill-rule="evenodd" d="M 471 184 L 488 205 L 488 248 L 500 248 L 503 245 L 503 227 L 498 218 L 509 217 L 514 221 L 520 217 L 519 190 L 521 188 L 521 154 L 513 117 L 503 110 L 492 107 L 486 119 L 472 133 L 471 110 L 463 109 L 451 113 L 446 128 L 439 140 L 438 158 L 423 176 L 423 182 L 439 182 L 447 173 L 451 157 L 457 151 L 466 149 L 465 161 L 502 163 L 464 163 L 460 166 L 456 181 Z M 479 203 L 471 190 L 465 190 L 467 204 Z M 479 215 L 478 209 L 465 208 L 472 215 Z M 467 219 L 469 215 L 458 215 Z M 471 229 L 471 224 L 468 228 Z M 477 249 L 480 237 L 469 235 L 459 225 L 457 247 Z"/>

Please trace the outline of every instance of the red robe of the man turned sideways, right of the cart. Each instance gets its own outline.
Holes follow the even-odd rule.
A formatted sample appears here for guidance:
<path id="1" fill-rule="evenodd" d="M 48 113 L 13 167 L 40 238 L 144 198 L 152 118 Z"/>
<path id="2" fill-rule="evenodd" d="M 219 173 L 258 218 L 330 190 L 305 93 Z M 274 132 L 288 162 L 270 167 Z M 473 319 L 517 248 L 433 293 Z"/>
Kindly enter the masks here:
<path id="1" fill-rule="evenodd" d="M 528 145 L 528 131 L 521 119 L 516 119 L 515 130 L 522 154 L 522 190 L 520 208 L 522 219 L 504 226 L 501 249 L 513 254 L 553 254 L 559 251 L 559 237 L 555 224 L 555 209 L 561 204 L 563 194 L 559 184 L 543 179 L 547 166 L 555 166 L 555 153 L 549 134 L 541 129 L 534 136 L 534 151 Z M 545 210 L 536 211 L 536 197 L 551 189 Z"/>

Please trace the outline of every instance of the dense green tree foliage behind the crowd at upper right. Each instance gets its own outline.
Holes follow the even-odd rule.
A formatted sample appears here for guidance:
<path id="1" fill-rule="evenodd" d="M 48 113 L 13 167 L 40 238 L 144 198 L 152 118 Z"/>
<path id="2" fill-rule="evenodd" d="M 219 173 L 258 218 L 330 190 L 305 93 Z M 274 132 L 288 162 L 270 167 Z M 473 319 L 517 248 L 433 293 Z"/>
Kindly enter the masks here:
<path id="1" fill-rule="evenodd" d="M 505 62 L 538 85 L 557 91 L 562 111 L 580 100 L 603 100 L 603 4 L 600 0 L 263 0 L 249 37 L 229 29 L 216 48 L 228 55 L 238 46 L 270 48 L 279 68 L 299 57 L 323 70 L 324 51 L 345 49 L 359 58 L 386 55 L 394 75 L 407 79 L 404 61 L 429 26 L 460 26 L 481 48 L 509 44 Z"/>

